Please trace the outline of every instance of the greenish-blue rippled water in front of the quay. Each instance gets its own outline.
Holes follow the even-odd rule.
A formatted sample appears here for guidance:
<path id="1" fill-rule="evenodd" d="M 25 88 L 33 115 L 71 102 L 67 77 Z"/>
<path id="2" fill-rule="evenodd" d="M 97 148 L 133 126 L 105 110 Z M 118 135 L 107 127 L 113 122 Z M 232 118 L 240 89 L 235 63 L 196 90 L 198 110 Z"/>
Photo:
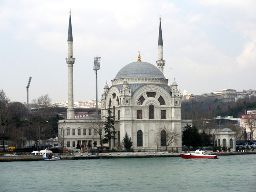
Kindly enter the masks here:
<path id="1" fill-rule="evenodd" d="M 256 154 L 0 162 L 1 192 L 256 191 Z"/>

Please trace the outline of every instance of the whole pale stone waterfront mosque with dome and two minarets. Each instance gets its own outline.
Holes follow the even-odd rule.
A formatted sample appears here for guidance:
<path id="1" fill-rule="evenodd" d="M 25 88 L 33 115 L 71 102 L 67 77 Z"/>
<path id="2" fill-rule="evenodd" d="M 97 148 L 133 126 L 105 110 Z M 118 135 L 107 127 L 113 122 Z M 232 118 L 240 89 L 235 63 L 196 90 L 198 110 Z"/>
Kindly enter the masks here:
<path id="1" fill-rule="evenodd" d="M 111 147 L 117 148 L 127 133 L 132 138 L 132 148 L 181 148 L 181 95 L 175 82 L 168 84 L 164 76 L 163 39 L 161 18 L 158 37 L 158 60 L 156 67 L 138 60 L 124 65 L 102 92 L 101 118 L 86 116 L 74 118 L 73 106 L 73 37 L 71 15 L 68 27 L 68 110 L 67 119 L 60 120 L 60 146 L 68 149 L 93 148 L 100 145 L 100 135 L 95 125 L 103 128 L 108 109 L 115 119 L 116 138 Z M 99 125 L 99 122 L 101 125 Z M 103 131 L 104 135 L 104 131 Z M 107 145 L 107 144 L 105 144 Z"/>

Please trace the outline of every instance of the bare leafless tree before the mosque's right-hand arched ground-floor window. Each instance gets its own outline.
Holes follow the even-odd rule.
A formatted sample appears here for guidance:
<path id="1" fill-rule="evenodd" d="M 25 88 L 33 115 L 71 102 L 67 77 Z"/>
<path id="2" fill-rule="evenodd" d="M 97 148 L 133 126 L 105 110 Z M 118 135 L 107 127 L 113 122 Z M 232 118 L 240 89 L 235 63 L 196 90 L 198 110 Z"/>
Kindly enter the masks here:
<path id="1" fill-rule="evenodd" d="M 167 151 L 168 146 L 177 142 L 178 138 L 180 138 L 180 134 L 177 130 L 172 130 L 164 125 L 160 128 L 160 134 L 156 137 L 156 141 L 157 145 L 160 142 L 161 146 L 165 146 L 165 150 Z"/>

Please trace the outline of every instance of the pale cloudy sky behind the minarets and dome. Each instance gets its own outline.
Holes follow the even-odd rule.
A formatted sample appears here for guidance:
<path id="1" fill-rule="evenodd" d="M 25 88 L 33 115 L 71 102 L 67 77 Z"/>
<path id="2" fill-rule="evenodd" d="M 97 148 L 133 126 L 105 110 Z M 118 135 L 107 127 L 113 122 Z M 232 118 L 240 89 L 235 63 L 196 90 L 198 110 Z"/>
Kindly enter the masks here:
<path id="1" fill-rule="evenodd" d="M 74 102 L 98 99 L 138 59 L 156 66 L 161 15 L 164 76 L 181 93 L 256 89 L 255 0 L 1 0 L 0 90 L 10 101 L 68 100 L 71 10 Z"/>

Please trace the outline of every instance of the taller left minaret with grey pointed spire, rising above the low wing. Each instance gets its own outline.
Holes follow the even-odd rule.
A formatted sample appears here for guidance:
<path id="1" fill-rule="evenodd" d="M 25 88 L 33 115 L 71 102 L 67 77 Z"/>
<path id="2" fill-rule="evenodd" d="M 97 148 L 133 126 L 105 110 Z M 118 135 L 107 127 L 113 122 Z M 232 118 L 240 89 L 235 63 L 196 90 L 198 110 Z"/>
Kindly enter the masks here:
<path id="1" fill-rule="evenodd" d="M 73 95 L 73 64 L 75 62 L 73 58 L 73 35 L 71 26 L 71 11 L 69 12 L 69 24 L 68 24 L 68 58 L 66 62 L 68 64 L 68 110 L 67 119 L 74 118 L 74 95 Z"/>

